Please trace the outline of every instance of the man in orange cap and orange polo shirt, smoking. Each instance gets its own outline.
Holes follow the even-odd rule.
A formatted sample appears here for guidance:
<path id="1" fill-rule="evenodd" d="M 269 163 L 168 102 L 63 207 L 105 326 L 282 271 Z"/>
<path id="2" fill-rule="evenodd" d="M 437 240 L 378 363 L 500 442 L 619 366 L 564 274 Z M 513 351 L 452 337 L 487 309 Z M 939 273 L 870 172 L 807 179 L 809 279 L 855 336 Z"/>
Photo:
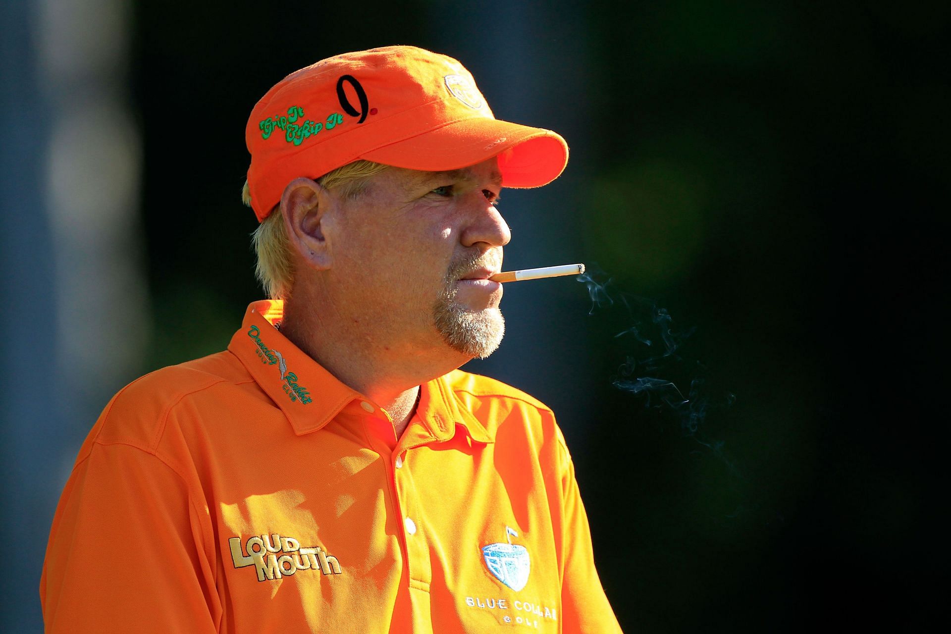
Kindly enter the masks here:
<path id="1" fill-rule="evenodd" d="M 246 141 L 272 299 L 108 404 L 53 521 L 47 630 L 618 631 L 552 412 L 457 370 L 503 334 L 499 190 L 556 178 L 564 140 L 392 47 L 289 75 Z"/>

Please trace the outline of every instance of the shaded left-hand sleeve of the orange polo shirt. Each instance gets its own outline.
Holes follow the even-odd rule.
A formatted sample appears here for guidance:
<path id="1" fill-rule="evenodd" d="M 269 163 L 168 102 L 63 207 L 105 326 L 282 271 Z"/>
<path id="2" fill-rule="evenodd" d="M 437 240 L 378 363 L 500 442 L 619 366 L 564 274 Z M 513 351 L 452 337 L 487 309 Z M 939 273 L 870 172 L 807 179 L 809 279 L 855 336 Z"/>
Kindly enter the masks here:
<path id="1" fill-rule="evenodd" d="M 53 518 L 40 581 L 48 634 L 217 631 L 202 512 L 160 457 L 93 443 Z"/>

